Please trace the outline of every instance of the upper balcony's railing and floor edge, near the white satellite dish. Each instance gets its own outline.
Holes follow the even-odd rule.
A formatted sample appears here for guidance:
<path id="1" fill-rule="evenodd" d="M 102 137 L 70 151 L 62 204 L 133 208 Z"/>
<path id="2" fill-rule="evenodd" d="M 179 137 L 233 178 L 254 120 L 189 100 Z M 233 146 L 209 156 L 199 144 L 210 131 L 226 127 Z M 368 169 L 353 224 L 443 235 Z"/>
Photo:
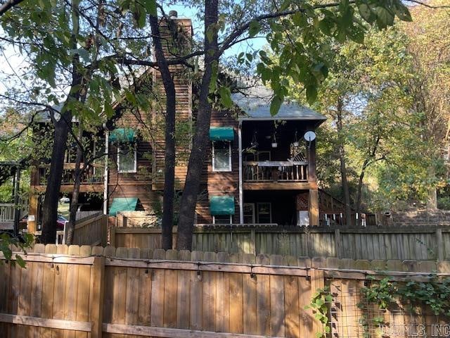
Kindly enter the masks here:
<path id="1" fill-rule="evenodd" d="M 246 161 L 244 189 L 309 189 L 307 161 Z"/>

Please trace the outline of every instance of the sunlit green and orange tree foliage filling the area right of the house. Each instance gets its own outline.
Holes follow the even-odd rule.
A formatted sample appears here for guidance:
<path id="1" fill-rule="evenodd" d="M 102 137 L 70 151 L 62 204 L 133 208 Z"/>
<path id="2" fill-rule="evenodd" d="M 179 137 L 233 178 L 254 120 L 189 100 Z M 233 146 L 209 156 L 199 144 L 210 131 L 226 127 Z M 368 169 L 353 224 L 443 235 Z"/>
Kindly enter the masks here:
<path id="1" fill-rule="evenodd" d="M 448 152 L 449 135 L 449 10 L 416 6 L 412 14 L 412 23 L 383 32 L 371 29 L 364 44 L 324 38 L 333 57 L 314 103 L 328 115 L 319 131 L 319 178 L 345 199 L 342 146 L 356 208 L 426 201 L 430 191 L 446 185 L 442 154 Z M 284 39 L 288 42 L 290 35 Z M 275 61 L 283 64 L 281 58 Z M 309 101 L 302 85 L 290 83 L 291 97 Z"/>

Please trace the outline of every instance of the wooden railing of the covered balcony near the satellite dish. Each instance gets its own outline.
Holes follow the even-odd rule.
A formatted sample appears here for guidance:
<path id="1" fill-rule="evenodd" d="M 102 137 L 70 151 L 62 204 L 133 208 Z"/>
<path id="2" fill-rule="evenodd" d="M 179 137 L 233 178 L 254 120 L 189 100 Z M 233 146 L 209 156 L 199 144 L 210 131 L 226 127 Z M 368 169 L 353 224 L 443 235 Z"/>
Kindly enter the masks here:
<path id="1" fill-rule="evenodd" d="M 244 162 L 245 182 L 307 182 L 306 161 L 259 161 Z"/>

